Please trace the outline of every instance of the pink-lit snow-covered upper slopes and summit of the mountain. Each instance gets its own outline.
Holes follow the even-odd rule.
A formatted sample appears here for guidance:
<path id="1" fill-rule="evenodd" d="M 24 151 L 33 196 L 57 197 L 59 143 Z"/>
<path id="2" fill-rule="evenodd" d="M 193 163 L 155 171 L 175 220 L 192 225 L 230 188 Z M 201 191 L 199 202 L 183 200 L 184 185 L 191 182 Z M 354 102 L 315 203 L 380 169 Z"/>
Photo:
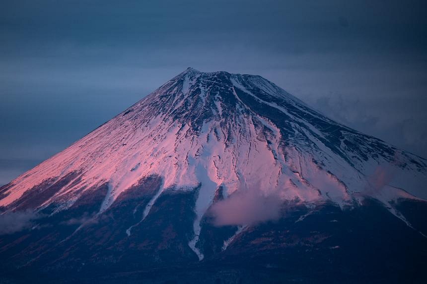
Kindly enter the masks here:
<path id="1" fill-rule="evenodd" d="M 188 68 L 3 186 L 0 207 L 18 208 L 41 185 L 66 180 L 30 201 L 33 208 L 55 205 L 59 212 L 108 182 L 101 213 L 142 177 L 156 174 L 162 187 L 142 220 L 164 190 L 198 188 L 190 246 L 203 258 L 196 247 L 200 221 L 219 186 L 225 197 L 256 189 L 263 196 L 279 192 L 283 200 L 345 207 L 367 196 L 391 208 L 399 197 L 427 199 L 426 167 L 425 159 L 313 111 L 260 76 Z"/>

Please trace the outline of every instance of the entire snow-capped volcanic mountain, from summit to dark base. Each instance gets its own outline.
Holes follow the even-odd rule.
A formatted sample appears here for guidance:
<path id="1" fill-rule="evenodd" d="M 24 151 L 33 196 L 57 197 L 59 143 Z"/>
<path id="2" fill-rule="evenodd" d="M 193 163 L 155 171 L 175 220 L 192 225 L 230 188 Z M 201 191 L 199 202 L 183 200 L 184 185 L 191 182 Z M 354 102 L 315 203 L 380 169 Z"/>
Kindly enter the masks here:
<path id="1" fill-rule="evenodd" d="M 423 283 L 426 182 L 260 76 L 188 68 L 0 188 L 0 277 Z"/>

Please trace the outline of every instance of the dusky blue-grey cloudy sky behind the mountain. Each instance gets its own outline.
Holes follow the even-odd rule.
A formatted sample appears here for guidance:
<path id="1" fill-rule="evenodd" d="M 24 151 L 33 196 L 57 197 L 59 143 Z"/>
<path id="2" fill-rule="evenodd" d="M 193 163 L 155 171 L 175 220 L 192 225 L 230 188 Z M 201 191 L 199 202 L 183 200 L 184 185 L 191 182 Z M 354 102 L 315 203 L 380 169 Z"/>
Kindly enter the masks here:
<path id="1" fill-rule="evenodd" d="M 427 1 L 0 0 L 0 184 L 187 67 L 427 158 Z"/>

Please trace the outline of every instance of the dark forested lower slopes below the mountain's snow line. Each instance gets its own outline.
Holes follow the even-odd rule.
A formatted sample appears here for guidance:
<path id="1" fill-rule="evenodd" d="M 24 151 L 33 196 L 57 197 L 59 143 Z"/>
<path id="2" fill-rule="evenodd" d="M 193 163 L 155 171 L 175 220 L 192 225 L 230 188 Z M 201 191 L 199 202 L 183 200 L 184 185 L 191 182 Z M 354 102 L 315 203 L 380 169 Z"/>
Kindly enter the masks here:
<path id="1" fill-rule="evenodd" d="M 37 220 L 38 228 L 0 237 L 1 279 L 10 283 L 423 283 L 426 202 L 400 200 L 414 228 L 375 200 L 354 209 L 334 204 L 285 206 L 279 221 L 247 227 L 202 223 L 198 261 L 192 238 L 195 192 L 162 193 L 144 220 L 141 208 L 158 190 L 150 176 L 95 215 L 108 186 L 70 209 Z M 123 210 L 123 208 L 131 210 Z M 135 209 L 135 211 L 134 211 Z M 402 210 L 404 212 L 404 210 Z M 408 217 L 408 219 L 411 219 Z M 67 221 L 64 221 L 67 220 Z M 132 228 L 130 235 L 126 229 Z M 37 276 L 37 278 L 34 278 Z"/>

